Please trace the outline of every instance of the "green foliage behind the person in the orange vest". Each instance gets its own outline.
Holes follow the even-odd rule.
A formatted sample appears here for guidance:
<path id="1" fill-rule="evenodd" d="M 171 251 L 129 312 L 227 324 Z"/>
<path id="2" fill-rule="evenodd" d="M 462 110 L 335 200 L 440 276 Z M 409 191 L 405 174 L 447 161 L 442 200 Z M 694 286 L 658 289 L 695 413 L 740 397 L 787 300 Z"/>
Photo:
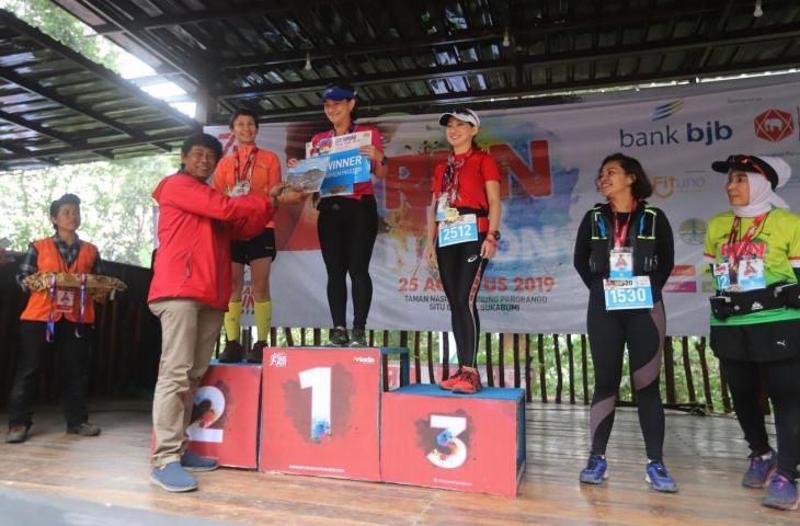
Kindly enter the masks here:
<path id="1" fill-rule="evenodd" d="M 150 194 L 178 163 L 175 157 L 158 156 L 2 174 L 0 238 L 11 240 L 11 250 L 24 251 L 31 241 L 52 236 L 50 202 L 69 192 L 82 202 L 79 236 L 96 244 L 103 259 L 149 266 L 156 204 Z"/>

